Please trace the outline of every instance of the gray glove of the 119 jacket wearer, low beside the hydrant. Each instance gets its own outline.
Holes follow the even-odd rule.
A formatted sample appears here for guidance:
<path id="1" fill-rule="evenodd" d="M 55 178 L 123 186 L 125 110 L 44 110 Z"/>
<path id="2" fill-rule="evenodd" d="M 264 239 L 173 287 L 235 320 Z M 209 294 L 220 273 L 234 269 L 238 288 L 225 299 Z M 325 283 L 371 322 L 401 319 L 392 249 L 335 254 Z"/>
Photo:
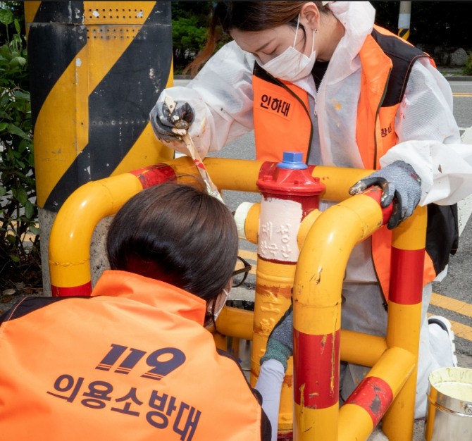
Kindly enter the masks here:
<path id="1" fill-rule="evenodd" d="M 287 371 L 287 360 L 293 355 L 293 307 L 285 311 L 269 335 L 266 354 L 261 356 L 261 364 L 266 360 L 278 360 Z"/>

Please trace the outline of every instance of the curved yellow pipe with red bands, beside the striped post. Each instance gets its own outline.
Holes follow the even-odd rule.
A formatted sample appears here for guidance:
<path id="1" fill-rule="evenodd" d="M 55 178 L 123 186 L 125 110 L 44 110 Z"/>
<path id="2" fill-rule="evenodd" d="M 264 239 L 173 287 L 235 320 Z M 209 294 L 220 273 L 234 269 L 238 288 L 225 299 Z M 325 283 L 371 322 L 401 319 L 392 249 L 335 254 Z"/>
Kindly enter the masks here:
<path id="1" fill-rule="evenodd" d="M 249 162 L 249 161 L 247 161 Z M 130 173 L 87 182 L 70 194 L 58 211 L 49 238 L 49 271 L 53 296 L 89 295 L 90 242 L 95 227 L 112 216 L 134 194 L 175 175 L 197 175 L 188 157 Z M 257 173 L 253 180 L 256 181 Z"/>

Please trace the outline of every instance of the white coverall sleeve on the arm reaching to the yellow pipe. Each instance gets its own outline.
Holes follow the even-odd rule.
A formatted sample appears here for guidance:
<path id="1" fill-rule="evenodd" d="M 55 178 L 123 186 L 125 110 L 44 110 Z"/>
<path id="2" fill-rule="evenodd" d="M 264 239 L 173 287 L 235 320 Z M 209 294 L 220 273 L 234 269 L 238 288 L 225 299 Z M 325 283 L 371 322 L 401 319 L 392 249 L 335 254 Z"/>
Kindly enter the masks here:
<path id="1" fill-rule="evenodd" d="M 409 163 L 421 178 L 421 206 L 454 204 L 472 193 L 472 145 L 461 144 L 449 83 L 426 59 L 411 69 L 395 130 L 399 143 L 380 165 Z"/>

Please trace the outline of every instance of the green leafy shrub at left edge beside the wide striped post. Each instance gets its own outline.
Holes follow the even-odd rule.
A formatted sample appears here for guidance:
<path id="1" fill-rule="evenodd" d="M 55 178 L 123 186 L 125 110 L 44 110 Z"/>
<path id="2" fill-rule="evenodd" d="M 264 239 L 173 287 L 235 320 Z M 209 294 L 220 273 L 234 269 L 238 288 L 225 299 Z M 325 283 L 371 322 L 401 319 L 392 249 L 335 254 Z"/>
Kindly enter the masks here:
<path id="1" fill-rule="evenodd" d="M 0 279 L 39 266 L 27 50 L 11 8 L 0 10 Z M 1 43 L 0 43 L 1 44 Z"/>

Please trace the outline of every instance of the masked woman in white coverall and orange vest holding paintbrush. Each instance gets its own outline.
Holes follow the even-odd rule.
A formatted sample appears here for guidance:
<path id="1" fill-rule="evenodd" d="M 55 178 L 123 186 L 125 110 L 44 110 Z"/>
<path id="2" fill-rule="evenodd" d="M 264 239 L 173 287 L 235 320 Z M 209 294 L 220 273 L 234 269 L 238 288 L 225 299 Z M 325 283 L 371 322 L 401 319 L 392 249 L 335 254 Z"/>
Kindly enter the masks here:
<path id="1" fill-rule="evenodd" d="M 393 202 L 394 210 L 387 228 L 352 252 L 343 328 L 385 335 L 390 230 L 417 204 L 428 205 L 418 418 L 426 411 L 430 371 L 457 364 L 450 323 L 442 317 L 428 323 L 426 311 L 431 282 L 445 276 L 457 247 L 457 206 L 451 204 L 472 192 L 472 153 L 460 144 L 451 89 L 432 59 L 375 26 L 374 16 L 371 4 L 359 1 L 218 3 L 208 43 L 192 68 L 213 52 L 218 25 L 233 41 L 187 87 L 165 89 L 150 118 L 156 136 L 184 153 L 176 121 L 201 156 L 254 130 L 259 160 L 302 151 L 309 164 L 376 170 L 353 182 L 350 192 L 378 185 L 381 204 Z M 166 96 L 177 102 L 172 113 Z M 344 366 L 342 399 L 367 371 Z"/>

